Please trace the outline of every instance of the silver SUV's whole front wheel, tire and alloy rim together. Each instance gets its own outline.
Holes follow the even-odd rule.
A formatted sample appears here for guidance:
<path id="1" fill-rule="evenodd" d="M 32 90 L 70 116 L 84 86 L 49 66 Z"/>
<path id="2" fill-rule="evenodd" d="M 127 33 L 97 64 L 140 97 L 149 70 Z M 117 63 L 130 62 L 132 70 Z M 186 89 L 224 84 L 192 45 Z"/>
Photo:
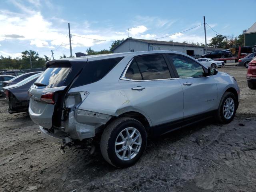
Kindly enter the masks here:
<path id="1" fill-rule="evenodd" d="M 230 123 L 236 115 L 237 107 L 238 101 L 236 100 L 236 96 L 231 92 L 225 92 L 220 100 L 216 114 L 217 122 L 221 124 Z"/>

